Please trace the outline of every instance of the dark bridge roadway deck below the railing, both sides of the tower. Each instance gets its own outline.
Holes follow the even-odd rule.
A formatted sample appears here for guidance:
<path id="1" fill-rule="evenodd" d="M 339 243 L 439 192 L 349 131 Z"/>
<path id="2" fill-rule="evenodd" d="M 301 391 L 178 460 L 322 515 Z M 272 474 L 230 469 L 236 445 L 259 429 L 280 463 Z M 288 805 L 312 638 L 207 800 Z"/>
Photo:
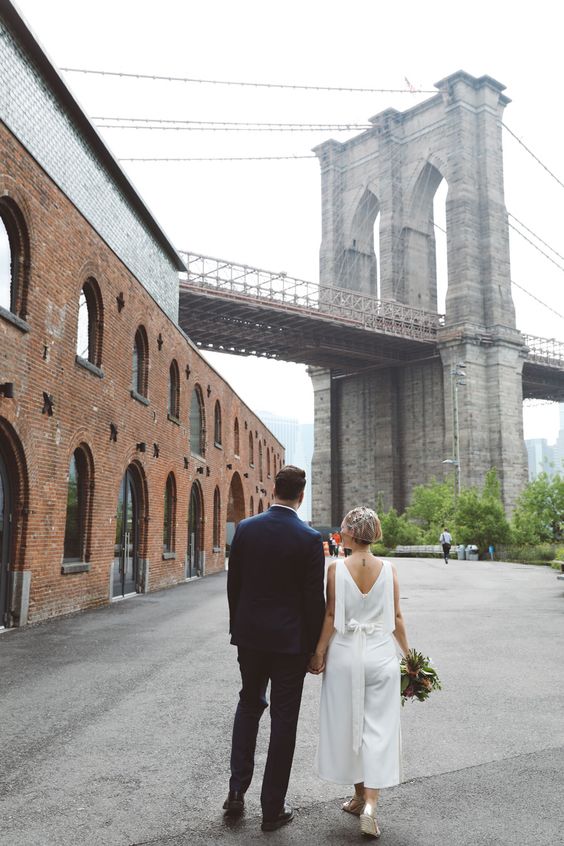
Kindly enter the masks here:
<path id="1" fill-rule="evenodd" d="M 382 318 L 367 326 L 350 309 L 324 313 L 211 286 L 181 284 L 179 321 L 202 349 L 326 367 L 336 374 L 439 358 L 436 330 L 425 325 L 424 337 L 414 337 L 413 319 L 402 324 L 399 317 Z M 564 402 L 564 362 L 530 355 L 523 364 L 523 398 Z"/>

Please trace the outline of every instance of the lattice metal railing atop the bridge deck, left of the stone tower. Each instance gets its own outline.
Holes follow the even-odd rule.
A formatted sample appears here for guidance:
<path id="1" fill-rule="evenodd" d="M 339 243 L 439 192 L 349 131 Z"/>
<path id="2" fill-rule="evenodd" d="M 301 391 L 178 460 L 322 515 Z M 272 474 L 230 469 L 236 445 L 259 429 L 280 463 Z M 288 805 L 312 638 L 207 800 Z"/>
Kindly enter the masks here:
<path id="1" fill-rule="evenodd" d="M 296 279 L 258 267 L 180 250 L 188 268 L 181 288 L 204 288 L 223 298 L 254 300 L 286 311 L 339 318 L 351 326 L 418 340 L 436 341 L 444 316 L 346 288 Z"/>

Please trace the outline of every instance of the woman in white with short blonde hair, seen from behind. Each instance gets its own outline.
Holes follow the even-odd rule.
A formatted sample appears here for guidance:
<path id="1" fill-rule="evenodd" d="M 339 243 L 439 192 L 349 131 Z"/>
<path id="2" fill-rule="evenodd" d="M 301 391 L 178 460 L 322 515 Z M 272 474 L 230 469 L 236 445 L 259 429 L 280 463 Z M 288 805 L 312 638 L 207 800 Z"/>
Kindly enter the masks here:
<path id="1" fill-rule="evenodd" d="M 341 526 L 352 554 L 329 566 L 327 610 L 309 670 L 324 673 L 319 717 L 319 776 L 354 784 L 343 810 L 360 817 L 360 830 L 380 836 L 380 789 L 401 781 L 400 667 L 392 635 L 408 652 L 395 567 L 370 552 L 382 529 L 360 506 Z"/>

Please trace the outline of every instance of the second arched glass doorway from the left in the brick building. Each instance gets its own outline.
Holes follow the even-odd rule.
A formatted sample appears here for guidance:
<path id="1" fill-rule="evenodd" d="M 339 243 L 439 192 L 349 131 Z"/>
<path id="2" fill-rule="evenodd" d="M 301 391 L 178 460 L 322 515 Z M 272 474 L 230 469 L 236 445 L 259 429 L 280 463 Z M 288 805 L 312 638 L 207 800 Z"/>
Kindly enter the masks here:
<path id="1" fill-rule="evenodd" d="M 118 493 L 112 599 L 123 599 L 140 589 L 141 504 L 138 474 L 130 465 L 121 480 Z"/>

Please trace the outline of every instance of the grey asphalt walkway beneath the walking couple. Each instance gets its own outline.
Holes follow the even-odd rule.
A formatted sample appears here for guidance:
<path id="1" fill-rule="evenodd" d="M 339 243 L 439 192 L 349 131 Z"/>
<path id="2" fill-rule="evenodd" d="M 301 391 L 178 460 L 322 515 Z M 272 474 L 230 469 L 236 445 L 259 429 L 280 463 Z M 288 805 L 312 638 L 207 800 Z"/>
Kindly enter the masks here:
<path id="1" fill-rule="evenodd" d="M 401 559 L 410 642 L 444 690 L 402 713 L 406 782 L 383 793 L 387 846 L 563 841 L 564 590 L 553 570 Z M 312 771 L 308 676 L 289 800 L 260 832 L 222 818 L 238 690 L 225 574 L 0 635 L 1 846 L 348 844 L 347 793 Z M 264 761 L 268 717 L 261 729 Z"/>

